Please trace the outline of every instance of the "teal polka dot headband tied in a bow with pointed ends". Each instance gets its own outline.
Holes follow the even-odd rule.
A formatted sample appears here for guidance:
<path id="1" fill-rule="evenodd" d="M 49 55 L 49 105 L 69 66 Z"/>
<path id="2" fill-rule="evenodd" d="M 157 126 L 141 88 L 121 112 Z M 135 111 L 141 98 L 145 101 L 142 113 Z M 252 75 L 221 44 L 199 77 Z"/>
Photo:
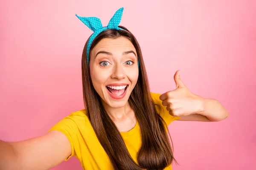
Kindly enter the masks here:
<path id="1" fill-rule="evenodd" d="M 116 11 L 114 16 L 111 18 L 111 20 L 108 23 L 108 26 L 103 27 L 102 23 L 99 18 L 97 17 L 80 17 L 76 14 L 76 17 L 79 18 L 87 27 L 89 27 L 94 33 L 92 36 L 89 38 L 88 44 L 87 44 L 87 61 L 89 63 L 89 51 L 90 51 L 90 46 L 102 31 L 105 31 L 106 29 L 116 29 L 116 30 L 124 30 L 122 28 L 119 28 L 118 25 L 121 21 L 122 18 L 122 13 L 123 13 L 124 8 L 120 8 L 119 10 Z M 140 65 L 140 61 L 138 62 L 138 65 Z"/>

